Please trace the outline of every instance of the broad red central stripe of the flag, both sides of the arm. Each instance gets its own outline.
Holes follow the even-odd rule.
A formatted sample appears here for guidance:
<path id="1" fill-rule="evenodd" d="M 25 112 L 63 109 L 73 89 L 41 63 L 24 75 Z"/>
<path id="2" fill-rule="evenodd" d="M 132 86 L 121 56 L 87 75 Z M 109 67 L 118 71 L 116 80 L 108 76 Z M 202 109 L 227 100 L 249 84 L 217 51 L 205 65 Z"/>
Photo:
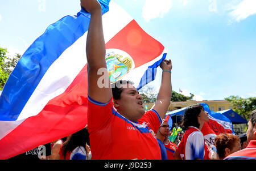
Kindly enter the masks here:
<path id="1" fill-rule="evenodd" d="M 131 21 L 107 44 L 131 55 L 135 68 L 162 54 L 164 46 Z M 63 138 L 87 124 L 87 65 L 64 93 L 50 100 L 36 116 L 27 118 L 0 140 L 0 159 L 8 159 L 32 148 Z"/>

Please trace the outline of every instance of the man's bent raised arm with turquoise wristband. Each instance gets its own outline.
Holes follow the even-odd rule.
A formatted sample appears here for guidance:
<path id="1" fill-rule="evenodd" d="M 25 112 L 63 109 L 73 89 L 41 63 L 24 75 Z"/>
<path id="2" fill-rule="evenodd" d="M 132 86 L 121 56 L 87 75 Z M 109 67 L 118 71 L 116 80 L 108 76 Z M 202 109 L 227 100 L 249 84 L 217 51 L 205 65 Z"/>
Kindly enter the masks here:
<path id="1" fill-rule="evenodd" d="M 152 109 L 158 112 L 159 116 L 163 119 L 166 116 L 168 106 L 170 105 L 171 96 L 172 96 L 172 83 L 171 83 L 171 70 L 172 62 L 171 60 L 165 59 L 160 64 L 161 69 L 163 70 L 162 82 L 159 89 L 158 96 L 156 98 L 155 105 Z"/>

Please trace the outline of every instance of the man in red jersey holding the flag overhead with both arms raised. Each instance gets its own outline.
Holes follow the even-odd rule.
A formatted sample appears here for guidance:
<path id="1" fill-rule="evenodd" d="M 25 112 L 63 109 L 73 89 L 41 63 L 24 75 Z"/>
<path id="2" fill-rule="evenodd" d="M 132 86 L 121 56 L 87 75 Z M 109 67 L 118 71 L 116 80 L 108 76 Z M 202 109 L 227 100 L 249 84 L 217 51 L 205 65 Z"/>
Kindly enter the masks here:
<path id="1" fill-rule="evenodd" d="M 119 81 L 110 86 L 108 74 L 98 75 L 99 69 L 108 73 L 101 5 L 96 0 L 81 0 L 81 6 L 91 14 L 86 57 L 92 159 L 161 159 L 155 133 L 170 105 L 171 60 L 160 64 L 163 74 L 158 97 L 152 109 L 145 113 L 142 96 L 130 82 Z M 108 86 L 100 88 L 98 79 L 108 80 Z"/>

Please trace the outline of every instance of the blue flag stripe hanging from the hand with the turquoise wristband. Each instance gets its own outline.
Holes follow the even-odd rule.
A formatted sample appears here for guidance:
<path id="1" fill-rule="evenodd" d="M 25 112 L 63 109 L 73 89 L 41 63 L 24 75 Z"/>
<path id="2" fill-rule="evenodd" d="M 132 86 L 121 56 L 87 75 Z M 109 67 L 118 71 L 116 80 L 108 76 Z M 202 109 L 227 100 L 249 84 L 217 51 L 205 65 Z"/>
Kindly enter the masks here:
<path id="1" fill-rule="evenodd" d="M 137 90 L 141 89 L 143 86 L 145 86 L 147 83 L 152 82 L 152 80 L 155 79 L 156 75 L 156 68 L 160 65 L 164 59 L 166 59 L 166 53 L 163 54 L 163 57 L 159 59 L 159 61 L 156 61 L 153 65 L 148 66 L 147 70 L 144 72 L 141 81 L 139 82 L 139 86 L 137 87 Z"/>

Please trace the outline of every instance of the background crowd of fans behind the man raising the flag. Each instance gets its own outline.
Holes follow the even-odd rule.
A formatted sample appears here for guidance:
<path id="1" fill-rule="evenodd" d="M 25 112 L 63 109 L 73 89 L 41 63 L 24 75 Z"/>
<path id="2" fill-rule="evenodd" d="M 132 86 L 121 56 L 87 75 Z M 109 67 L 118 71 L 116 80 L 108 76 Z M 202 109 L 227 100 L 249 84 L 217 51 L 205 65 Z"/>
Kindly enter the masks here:
<path id="1" fill-rule="evenodd" d="M 197 109 L 198 108 L 198 109 Z M 200 109 L 200 110 L 199 110 Z M 195 110 L 198 110 L 195 113 Z M 192 112 L 192 113 L 189 113 Z M 234 135 L 229 133 L 221 133 L 214 139 L 214 147 L 216 153 L 211 151 L 207 142 L 203 138 L 200 131 L 200 117 L 203 117 L 203 122 L 207 121 L 207 114 L 203 113 L 203 108 L 200 105 L 191 105 L 186 110 L 183 123 L 184 131 L 181 131 L 176 137 L 175 142 L 171 142 L 171 126 L 168 121 L 164 120 L 155 134 L 159 149 L 151 149 L 160 152 L 161 160 L 232 160 L 232 159 L 256 159 L 255 151 L 255 121 L 256 110 L 251 112 L 250 121 L 248 124 L 247 134 Z M 192 119 L 192 115 L 197 119 Z M 191 118 L 186 118 L 191 117 Z M 194 122 L 193 122 L 194 121 Z M 203 123 L 201 122 L 201 124 Z M 250 132 L 250 131 L 254 132 Z M 247 138 L 247 135 L 249 138 Z M 44 150 L 46 153 L 40 153 Z M 213 153 L 211 154 L 211 152 Z M 40 155 L 42 154 L 42 155 Z M 92 159 L 90 151 L 90 138 L 87 127 L 68 135 L 62 139 L 57 139 L 51 143 L 44 144 L 44 148 L 39 146 L 31 149 L 21 155 L 10 158 L 15 159 L 34 159 L 34 160 L 90 160 Z M 124 154 L 125 155 L 125 154 Z"/>

